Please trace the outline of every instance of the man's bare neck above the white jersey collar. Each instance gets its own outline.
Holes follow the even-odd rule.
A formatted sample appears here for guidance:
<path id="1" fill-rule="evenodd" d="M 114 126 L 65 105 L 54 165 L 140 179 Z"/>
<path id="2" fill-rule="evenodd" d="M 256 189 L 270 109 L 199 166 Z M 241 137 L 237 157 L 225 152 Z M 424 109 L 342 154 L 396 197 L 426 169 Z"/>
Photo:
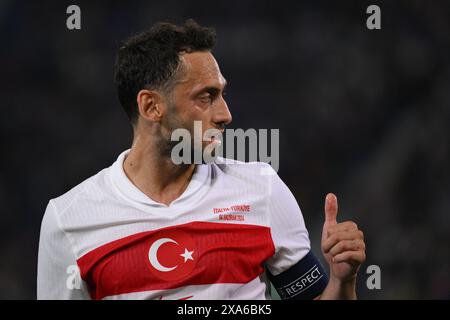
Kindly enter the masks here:
<path id="1" fill-rule="evenodd" d="M 168 206 L 186 190 L 195 165 L 176 165 L 161 154 L 156 141 L 135 136 L 123 169 L 139 190 Z"/>

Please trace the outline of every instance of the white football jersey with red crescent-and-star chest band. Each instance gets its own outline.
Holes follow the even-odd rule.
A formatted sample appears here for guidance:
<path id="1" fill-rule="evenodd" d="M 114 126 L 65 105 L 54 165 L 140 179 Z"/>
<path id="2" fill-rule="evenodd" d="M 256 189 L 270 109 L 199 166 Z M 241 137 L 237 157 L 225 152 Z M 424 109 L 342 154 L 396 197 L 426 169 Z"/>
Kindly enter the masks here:
<path id="1" fill-rule="evenodd" d="M 169 206 L 112 166 L 50 200 L 38 299 L 270 299 L 310 251 L 300 208 L 270 165 L 197 165 Z"/>

